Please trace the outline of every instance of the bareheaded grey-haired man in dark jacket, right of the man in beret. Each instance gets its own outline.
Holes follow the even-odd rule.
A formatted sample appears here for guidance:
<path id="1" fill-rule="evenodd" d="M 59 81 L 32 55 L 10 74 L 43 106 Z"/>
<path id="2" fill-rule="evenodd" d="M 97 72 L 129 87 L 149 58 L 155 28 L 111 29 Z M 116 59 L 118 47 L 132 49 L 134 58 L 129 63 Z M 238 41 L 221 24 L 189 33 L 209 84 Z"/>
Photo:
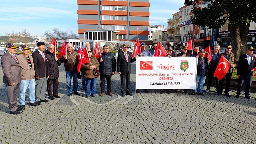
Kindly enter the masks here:
<path id="1" fill-rule="evenodd" d="M 59 87 L 59 66 L 61 65 L 60 59 L 54 53 L 55 45 L 49 44 L 45 51 L 48 59 L 49 78 L 47 80 L 47 93 L 50 100 L 54 98 L 61 98 L 58 96 Z M 52 94 L 53 87 L 53 94 Z"/>

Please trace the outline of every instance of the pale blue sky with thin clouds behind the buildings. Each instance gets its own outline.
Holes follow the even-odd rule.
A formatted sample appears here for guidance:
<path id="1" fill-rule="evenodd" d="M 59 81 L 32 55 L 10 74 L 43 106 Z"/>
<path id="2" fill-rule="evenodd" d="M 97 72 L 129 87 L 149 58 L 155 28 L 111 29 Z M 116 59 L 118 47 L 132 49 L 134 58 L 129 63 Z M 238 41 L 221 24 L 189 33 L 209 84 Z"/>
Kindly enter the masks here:
<path id="1" fill-rule="evenodd" d="M 184 0 L 185 1 L 185 0 Z M 150 25 L 167 26 L 167 19 L 184 6 L 183 0 L 149 0 Z M 0 3 L 0 36 L 27 29 L 42 36 L 46 30 L 76 32 L 76 0 L 2 0 Z"/>

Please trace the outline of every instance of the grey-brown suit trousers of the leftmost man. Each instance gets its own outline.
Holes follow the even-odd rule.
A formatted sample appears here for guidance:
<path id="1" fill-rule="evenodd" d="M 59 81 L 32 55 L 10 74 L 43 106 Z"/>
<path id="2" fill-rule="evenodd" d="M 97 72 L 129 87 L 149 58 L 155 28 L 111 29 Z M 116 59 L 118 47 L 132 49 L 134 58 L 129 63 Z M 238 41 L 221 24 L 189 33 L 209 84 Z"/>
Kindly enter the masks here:
<path id="1" fill-rule="evenodd" d="M 17 110 L 17 97 L 19 92 L 20 84 L 14 84 L 14 86 L 6 85 L 7 87 L 7 100 L 9 104 L 9 110 L 10 111 L 16 111 Z"/>

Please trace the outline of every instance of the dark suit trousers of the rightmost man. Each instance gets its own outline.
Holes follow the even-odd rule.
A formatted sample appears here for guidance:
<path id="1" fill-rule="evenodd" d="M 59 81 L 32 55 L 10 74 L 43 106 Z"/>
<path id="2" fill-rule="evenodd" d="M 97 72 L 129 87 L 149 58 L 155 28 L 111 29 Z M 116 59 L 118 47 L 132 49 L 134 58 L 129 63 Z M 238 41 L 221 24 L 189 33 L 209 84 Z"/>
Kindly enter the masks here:
<path id="1" fill-rule="evenodd" d="M 245 96 L 250 96 L 249 92 L 251 88 L 252 77 L 253 76 L 240 75 L 240 77 L 238 78 L 236 95 L 241 94 L 242 87 L 245 84 Z"/>

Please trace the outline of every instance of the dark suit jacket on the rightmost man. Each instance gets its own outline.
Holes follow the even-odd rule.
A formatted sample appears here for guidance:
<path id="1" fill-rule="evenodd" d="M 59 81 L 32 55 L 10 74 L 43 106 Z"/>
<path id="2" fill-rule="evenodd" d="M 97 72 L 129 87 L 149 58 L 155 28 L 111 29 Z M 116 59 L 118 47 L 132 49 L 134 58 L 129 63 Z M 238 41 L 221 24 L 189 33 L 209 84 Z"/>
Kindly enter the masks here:
<path id="1" fill-rule="evenodd" d="M 251 69 L 253 69 L 254 67 L 256 67 L 256 57 L 252 55 L 251 57 L 251 63 L 250 65 L 248 64 L 248 60 L 245 55 L 241 55 L 239 57 L 238 60 L 238 66 L 237 66 L 237 73 L 236 74 L 240 74 L 240 75 L 248 75 L 251 71 Z M 251 72 L 248 76 L 252 76 L 253 72 Z"/>

